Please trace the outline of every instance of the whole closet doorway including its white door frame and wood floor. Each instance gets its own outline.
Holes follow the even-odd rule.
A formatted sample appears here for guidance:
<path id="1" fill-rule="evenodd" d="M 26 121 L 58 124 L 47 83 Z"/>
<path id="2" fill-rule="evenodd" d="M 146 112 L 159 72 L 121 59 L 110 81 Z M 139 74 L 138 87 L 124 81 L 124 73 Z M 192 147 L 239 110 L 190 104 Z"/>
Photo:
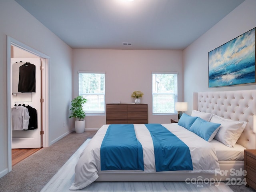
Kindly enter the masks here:
<path id="1" fill-rule="evenodd" d="M 12 156 L 22 160 L 42 147 L 48 146 L 48 59 L 49 57 L 8 37 L 7 71 L 8 71 L 8 171 L 12 170 Z M 20 67 L 34 67 L 33 90 L 21 91 L 19 84 Z M 26 77 L 27 74 L 25 74 Z M 31 82 L 31 80 L 29 80 Z M 25 87 L 28 83 L 25 84 Z M 30 85 L 31 87 L 31 85 Z M 24 88 L 24 87 L 23 87 Z M 19 90 L 18 90 L 19 89 Z M 17 109 L 29 115 L 29 125 L 18 127 L 14 123 Z M 16 110 L 16 111 L 15 111 Z M 20 122 L 18 122 L 19 125 Z M 16 126 L 14 126 L 16 124 Z M 18 127 L 18 129 L 17 129 Z M 32 150 L 30 150 L 32 149 Z M 12 155 L 12 150 L 16 154 Z M 18 155 L 17 151 L 22 155 Z"/>

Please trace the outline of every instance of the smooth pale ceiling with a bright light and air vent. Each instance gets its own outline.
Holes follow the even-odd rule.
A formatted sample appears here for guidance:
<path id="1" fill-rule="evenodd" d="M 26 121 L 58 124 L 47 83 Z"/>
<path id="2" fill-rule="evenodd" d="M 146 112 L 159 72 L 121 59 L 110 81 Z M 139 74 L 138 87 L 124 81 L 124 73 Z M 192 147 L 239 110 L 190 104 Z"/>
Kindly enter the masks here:
<path id="1" fill-rule="evenodd" d="M 183 50 L 244 0 L 16 2 L 72 48 Z"/>

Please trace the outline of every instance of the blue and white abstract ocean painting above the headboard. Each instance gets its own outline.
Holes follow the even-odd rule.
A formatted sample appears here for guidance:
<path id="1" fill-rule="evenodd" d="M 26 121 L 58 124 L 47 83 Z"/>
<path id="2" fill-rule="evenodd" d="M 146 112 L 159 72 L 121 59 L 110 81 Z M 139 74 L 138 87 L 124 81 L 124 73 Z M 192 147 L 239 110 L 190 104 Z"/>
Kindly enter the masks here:
<path id="1" fill-rule="evenodd" d="M 255 83 L 255 28 L 212 50 L 209 88 Z"/>

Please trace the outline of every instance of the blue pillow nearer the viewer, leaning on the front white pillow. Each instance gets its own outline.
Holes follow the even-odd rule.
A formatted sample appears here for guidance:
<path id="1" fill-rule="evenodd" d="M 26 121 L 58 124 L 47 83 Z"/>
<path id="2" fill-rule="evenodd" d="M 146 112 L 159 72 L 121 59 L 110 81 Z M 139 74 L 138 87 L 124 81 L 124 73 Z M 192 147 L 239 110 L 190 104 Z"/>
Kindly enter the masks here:
<path id="1" fill-rule="evenodd" d="M 210 142 L 217 134 L 220 125 L 219 123 L 208 122 L 198 117 L 189 130 Z"/>

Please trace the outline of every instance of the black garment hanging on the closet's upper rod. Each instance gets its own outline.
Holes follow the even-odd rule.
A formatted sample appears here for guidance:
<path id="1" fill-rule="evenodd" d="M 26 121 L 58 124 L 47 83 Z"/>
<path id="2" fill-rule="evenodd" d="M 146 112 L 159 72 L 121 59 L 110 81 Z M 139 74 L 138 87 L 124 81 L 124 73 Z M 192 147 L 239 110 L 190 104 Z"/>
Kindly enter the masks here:
<path id="1" fill-rule="evenodd" d="M 36 66 L 29 62 L 20 66 L 18 92 L 36 92 Z"/>

